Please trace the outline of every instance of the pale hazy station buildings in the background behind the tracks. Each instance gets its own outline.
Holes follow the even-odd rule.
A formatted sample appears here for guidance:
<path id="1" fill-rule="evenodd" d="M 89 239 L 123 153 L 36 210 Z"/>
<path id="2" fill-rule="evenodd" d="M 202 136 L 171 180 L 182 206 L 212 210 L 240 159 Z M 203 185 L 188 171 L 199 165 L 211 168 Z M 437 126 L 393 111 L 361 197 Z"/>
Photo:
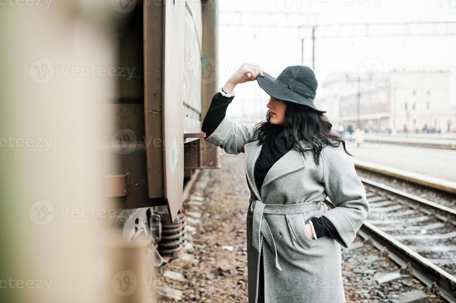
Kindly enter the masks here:
<path id="1" fill-rule="evenodd" d="M 454 70 L 392 69 L 374 84 L 355 74 L 333 75 L 322 87 L 319 102 L 334 128 L 342 124 L 367 132 L 456 132 Z"/>

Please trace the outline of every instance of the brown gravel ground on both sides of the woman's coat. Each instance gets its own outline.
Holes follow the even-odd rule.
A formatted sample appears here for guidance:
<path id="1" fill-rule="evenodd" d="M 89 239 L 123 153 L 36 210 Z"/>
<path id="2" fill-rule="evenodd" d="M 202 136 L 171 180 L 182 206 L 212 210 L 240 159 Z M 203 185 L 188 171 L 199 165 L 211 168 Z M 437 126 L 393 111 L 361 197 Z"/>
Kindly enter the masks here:
<path id="1" fill-rule="evenodd" d="M 244 154 L 223 153 L 220 160 L 221 169 L 201 171 L 182 206 L 187 245 L 157 273 L 159 302 L 247 302 Z M 435 285 L 422 284 L 363 236 L 342 249 L 347 302 L 445 302 Z"/>

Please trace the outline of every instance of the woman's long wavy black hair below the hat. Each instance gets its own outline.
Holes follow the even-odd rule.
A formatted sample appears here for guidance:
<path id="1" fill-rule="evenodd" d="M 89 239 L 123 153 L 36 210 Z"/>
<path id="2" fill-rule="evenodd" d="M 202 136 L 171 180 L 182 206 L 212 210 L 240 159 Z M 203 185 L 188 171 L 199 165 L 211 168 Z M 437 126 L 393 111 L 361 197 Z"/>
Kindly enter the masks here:
<path id="1" fill-rule="evenodd" d="M 286 103 L 287 108 L 285 112 L 285 127 L 283 128 L 284 133 L 281 133 L 280 136 L 283 137 L 281 139 L 285 139 L 286 145 L 301 151 L 305 156 L 307 151 L 302 148 L 301 144 L 295 143 L 301 139 L 306 140 L 312 146 L 314 161 L 317 165 L 321 150 L 325 145 L 337 147 L 342 143 L 345 152 L 352 156 L 345 148 L 345 140 L 331 130 L 332 123 L 329 122 L 324 114 L 318 113 L 306 105 L 288 101 L 282 102 Z M 277 127 L 277 125 L 270 123 L 270 119 L 268 110 L 266 119 L 255 125 L 254 138 L 257 139 L 249 140 L 249 142 L 258 140 L 258 145 L 263 143 L 266 134 Z"/>

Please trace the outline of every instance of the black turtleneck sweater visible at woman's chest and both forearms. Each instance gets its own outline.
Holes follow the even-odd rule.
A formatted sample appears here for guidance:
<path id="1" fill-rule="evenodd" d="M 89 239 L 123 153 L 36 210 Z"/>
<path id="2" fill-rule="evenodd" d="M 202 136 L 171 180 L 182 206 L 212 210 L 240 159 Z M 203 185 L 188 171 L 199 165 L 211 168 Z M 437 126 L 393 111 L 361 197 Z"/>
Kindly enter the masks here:
<path id="1" fill-rule="evenodd" d="M 233 101 L 234 97 L 235 96 L 224 97 L 220 92 L 217 92 L 214 95 L 201 126 L 201 130 L 206 133 L 206 138 L 214 132 L 220 122 L 222 122 L 223 118 L 225 118 L 228 105 L 231 101 Z M 255 183 L 257 184 L 259 191 L 261 189 L 261 185 L 263 185 L 264 177 L 272 165 L 292 148 L 292 146 L 286 146 L 286 144 L 284 145 L 281 140 L 276 142 L 275 139 L 282 130 L 283 126 L 272 125 L 272 129 L 264 137 L 263 146 L 261 147 L 261 151 L 255 162 L 254 168 Z M 342 241 L 334 225 L 332 225 L 331 221 L 325 217 L 312 217 L 311 221 L 315 228 L 317 238 L 329 236 L 332 238 L 338 238 Z"/>

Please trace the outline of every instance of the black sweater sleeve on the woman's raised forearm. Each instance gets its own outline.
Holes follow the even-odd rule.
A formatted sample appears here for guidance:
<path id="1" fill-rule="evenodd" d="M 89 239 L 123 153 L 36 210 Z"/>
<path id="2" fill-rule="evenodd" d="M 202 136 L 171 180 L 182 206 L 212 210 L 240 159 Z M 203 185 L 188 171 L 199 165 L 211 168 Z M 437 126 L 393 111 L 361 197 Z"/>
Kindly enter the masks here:
<path id="1" fill-rule="evenodd" d="M 228 105 L 233 99 L 234 96 L 224 97 L 220 92 L 214 95 L 201 125 L 201 131 L 206 133 L 205 138 L 209 137 L 225 118 Z"/>

